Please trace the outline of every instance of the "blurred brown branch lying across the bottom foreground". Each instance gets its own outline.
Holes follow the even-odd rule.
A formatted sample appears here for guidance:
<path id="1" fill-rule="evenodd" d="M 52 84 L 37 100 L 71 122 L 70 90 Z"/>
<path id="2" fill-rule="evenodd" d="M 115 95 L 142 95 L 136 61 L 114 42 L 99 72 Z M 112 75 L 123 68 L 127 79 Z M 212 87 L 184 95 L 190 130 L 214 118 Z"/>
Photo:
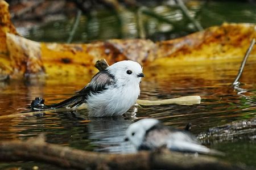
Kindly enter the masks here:
<path id="1" fill-rule="evenodd" d="M 35 160 L 72 169 L 246 169 L 207 155 L 160 151 L 106 154 L 46 143 L 44 136 L 0 142 L 0 161 Z"/>

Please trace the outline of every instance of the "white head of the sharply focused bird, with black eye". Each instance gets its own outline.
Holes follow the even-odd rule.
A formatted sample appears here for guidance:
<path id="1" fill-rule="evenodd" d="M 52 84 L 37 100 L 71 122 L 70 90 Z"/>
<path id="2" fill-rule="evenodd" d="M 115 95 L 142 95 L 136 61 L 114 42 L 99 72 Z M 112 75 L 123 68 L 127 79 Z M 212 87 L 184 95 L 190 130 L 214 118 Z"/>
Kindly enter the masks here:
<path id="1" fill-rule="evenodd" d="M 119 82 L 139 83 L 141 78 L 144 77 L 142 66 L 131 60 L 114 63 L 107 70 Z"/>

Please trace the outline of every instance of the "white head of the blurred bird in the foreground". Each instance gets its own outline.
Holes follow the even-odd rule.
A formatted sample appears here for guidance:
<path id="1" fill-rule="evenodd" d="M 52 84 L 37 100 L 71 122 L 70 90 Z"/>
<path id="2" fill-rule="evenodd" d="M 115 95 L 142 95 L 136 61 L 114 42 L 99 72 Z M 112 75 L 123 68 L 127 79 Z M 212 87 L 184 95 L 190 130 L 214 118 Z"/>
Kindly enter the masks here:
<path id="1" fill-rule="evenodd" d="M 130 141 L 138 148 L 144 140 L 146 131 L 156 124 L 159 124 L 159 121 L 154 118 L 144 118 L 131 124 L 126 130 L 125 141 Z"/>

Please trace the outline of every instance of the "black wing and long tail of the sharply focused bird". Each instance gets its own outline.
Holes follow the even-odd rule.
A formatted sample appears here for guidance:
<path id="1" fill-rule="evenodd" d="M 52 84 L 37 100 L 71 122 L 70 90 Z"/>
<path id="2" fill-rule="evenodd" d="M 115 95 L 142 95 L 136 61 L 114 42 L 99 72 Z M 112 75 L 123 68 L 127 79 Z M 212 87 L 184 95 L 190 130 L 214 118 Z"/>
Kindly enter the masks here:
<path id="1" fill-rule="evenodd" d="M 99 71 L 96 75 L 93 76 L 90 83 L 82 88 L 81 91 L 77 92 L 75 96 L 70 97 L 69 99 L 61 101 L 57 104 L 44 105 L 44 107 L 42 107 L 42 104 L 40 104 L 40 110 L 48 110 L 61 107 L 77 107 L 82 103 L 86 103 L 86 99 L 90 94 L 97 94 L 103 92 L 108 88 L 108 86 L 114 84 L 114 82 L 114 76 L 110 74 L 107 70 Z M 36 105 L 33 103 L 35 103 L 35 100 L 33 100 L 31 103 L 31 109 L 38 110 L 39 108 L 36 108 Z"/>

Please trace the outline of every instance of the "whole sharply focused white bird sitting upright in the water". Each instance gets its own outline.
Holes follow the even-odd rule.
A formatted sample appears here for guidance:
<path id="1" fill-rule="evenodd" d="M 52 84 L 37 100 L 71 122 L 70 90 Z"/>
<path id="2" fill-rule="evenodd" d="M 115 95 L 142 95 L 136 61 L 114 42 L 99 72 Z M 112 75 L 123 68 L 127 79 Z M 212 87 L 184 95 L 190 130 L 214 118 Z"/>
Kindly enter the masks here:
<path id="1" fill-rule="evenodd" d="M 142 66 L 138 62 L 119 61 L 99 71 L 75 96 L 53 105 L 44 105 L 44 100 L 39 97 L 32 101 L 31 108 L 34 110 L 76 108 L 86 103 L 89 116 L 119 116 L 136 103 L 142 77 L 144 77 Z"/>

